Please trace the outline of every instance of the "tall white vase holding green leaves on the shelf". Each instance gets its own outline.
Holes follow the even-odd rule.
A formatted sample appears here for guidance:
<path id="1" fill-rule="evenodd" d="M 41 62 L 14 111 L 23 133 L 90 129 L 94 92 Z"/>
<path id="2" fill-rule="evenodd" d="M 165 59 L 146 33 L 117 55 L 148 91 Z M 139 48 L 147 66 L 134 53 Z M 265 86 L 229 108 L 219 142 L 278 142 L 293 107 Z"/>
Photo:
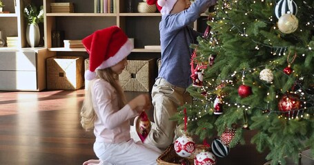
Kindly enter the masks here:
<path id="1" fill-rule="evenodd" d="M 27 26 L 26 40 L 30 47 L 37 47 L 39 45 L 40 32 L 37 23 L 32 23 Z"/>

